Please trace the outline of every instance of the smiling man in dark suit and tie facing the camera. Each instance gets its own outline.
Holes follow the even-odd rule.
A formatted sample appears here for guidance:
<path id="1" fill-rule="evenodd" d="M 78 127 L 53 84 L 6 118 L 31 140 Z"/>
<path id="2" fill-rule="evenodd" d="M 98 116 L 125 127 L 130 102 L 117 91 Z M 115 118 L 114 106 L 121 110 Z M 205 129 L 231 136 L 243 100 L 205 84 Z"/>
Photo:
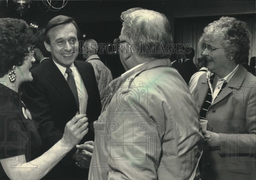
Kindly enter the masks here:
<path id="1" fill-rule="evenodd" d="M 60 15 L 52 18 L 44 34 L 44 44 L 51 57 L 31 70 L 34 80 L 24 85 L 23 100 L 39 124 L 43 152 L 62 137 L 65 124 L 78 111 L 87 114 L 90 124 L 98 119 L 101 112 L 93 66 L 88 62 L 75 61 L 79 33 L 71 17 Z M 85 150 L 72 149 L 44 179 L 88 178 L 88 170 L 80 169 L 73 160 L 78 161 L 76 157 L 82 157 L 89 167 L 94 131 L 88 127 L 87 135 L 80 142 L 89 141 L 84 144 Z"/>

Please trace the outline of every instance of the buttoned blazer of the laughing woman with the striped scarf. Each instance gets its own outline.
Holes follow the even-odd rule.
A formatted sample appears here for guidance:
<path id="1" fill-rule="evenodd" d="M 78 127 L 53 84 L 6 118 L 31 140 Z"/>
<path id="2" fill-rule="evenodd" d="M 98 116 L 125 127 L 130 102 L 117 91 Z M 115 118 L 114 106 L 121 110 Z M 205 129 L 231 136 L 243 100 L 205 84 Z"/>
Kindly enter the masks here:
<path id="1" fill-rule="evenodd" d="M 208 84 L 206 73 L 199 77 L 194 99 L 198 112 L 202 108 Z M 256 78 L 242 66 L 206 115 L 209 131 L 220 135 L 220 150 L 204 147 L 202 180 L 255 179 L 256 171 Z"/>

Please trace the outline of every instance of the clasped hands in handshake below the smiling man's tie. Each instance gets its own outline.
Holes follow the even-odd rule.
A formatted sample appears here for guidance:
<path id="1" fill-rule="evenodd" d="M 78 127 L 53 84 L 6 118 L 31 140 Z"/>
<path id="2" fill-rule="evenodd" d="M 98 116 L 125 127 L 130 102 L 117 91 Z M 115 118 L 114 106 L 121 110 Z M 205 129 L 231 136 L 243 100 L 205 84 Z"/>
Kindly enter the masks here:
<path id="1" fill-rule="evenodd" d="M 76 145 L 78 149 L 75 153 L 74 160 L 76 161 L 76 165 L 80 168 L 89 168 L 92 152 L 93 152 L 93 141 L 86 141 L 84 144 Z"/>

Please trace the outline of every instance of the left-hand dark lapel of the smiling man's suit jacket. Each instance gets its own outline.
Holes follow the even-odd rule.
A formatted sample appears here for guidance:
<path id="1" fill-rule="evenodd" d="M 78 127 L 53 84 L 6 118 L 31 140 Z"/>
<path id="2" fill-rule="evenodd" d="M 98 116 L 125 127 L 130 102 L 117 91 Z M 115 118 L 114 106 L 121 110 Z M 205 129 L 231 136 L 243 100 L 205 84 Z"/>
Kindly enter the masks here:
<path id="1" fill-rule="evenodd" d="M 76 100 L 65 77 L 61 74 L 51 57 L 48 61 L 48 74 L 51 76 L 50 81 L 52 85 L 58 90 L 68 104 L 72 105 L 73 107 L 77 107 Z"/>

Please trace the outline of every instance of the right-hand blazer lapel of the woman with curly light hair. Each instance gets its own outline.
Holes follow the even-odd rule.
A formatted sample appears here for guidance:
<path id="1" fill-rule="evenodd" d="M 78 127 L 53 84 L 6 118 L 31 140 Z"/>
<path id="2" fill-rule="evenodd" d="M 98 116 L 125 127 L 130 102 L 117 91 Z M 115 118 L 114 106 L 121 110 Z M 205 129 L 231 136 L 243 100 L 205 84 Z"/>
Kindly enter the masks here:
<path id="1" fill-rule="evenodd" d="M 226 88 L 224 88 L 221 93 L 219 94 L 219 96 L 214 100 L 214 102 L 212 103 L 212 105 L 217 104 L 218 102 L 220 102 L 222 99 L 224 99 L 225 97 L 227 97 L 231 92 L 233 92 L 234 88 L 239 89 L 241 86 L 241 83 L 243 82 L 245 76 L 247 74 L 247 70 L 239 64 L 238 69 L 236 71 L 236 73 L 231 77 L 231 79 L 229 80 L 228 84 L 226 85 Z M 212 106 L 211 105 L 211 106 Z"/>

